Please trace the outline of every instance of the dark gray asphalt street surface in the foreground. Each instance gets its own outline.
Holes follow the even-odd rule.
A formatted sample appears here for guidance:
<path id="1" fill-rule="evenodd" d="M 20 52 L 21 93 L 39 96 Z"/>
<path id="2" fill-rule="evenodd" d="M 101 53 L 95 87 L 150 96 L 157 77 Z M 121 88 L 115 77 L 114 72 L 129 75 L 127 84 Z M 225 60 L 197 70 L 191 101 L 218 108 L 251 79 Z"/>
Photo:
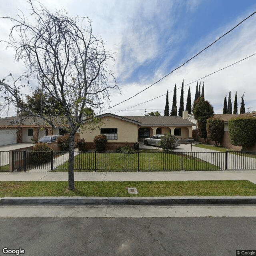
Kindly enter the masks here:
<path id="1" fill-rule="evenodd" d="M 0 229 L 1 255 L 2 248 L 26 256 L 235 256 L 256 249 L 255 217 L 0 218 Z"/>

